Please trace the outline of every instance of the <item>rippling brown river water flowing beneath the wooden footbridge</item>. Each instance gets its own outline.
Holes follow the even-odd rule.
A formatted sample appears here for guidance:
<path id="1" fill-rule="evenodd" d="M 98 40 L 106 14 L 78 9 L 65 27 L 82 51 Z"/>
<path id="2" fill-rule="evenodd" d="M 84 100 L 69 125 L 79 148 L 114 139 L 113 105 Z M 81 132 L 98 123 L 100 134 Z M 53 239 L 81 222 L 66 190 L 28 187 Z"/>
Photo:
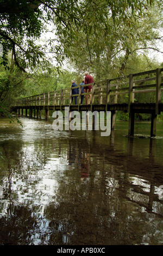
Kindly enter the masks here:
<path id="1" fill-rule="evenodd" d="M 102 137 L 20 120 L 0 119 L 1 245 L 163 245 L 163 124 L 151 139 L 148 122 L 128 138 L 128 122 Z"/>

